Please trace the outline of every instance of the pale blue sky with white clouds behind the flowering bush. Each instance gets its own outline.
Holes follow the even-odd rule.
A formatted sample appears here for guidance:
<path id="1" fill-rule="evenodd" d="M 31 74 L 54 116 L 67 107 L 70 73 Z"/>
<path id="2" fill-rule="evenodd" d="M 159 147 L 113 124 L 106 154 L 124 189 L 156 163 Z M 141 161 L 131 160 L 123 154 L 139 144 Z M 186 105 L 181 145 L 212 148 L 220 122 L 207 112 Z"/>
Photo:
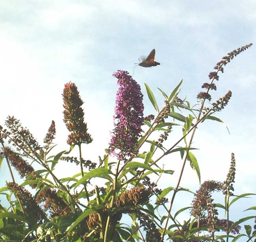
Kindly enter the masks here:
<path id="1" fill-rule="evenodd" d="M 228 52 L 254 43 L 256 2 L 239 1 L 4 1 L 0 0 L 0 125 L 14 115 L 42 142 L 51 121 L 56 123 L 58 146 L 55 154 L 68 150 L 68 130 L 62 121 L 64 84 L 74 82 L 85 102 L 85 121 L 94 139 L 83 146 L 84 158 L 97 162 L 108 147 L 117 79 L 112 74 L 126 70 L 155 48 L 153 68 L 136 67 L 134 79 L 141 85 L 145 115 L 156 114 L 147 98 L 144 83 L 155 94 L 158 105 L 164 100 L 157 87 L 171 93 L 183 79 L 179 97 L 196 104 L 201 85 L 216 62 Z M 235 57 L 220 74 L 213 101 L 232 91 L 228 106 L 216 114 L 228 126 L 205 121 L 196 131 L 194 152 L 201 181 L 224 181 L 235 153 L 236 194 L 256 193 L 254 149 L 256 143 L 256 48 L 255 44 Z M 175 128 L 168 144 L 180 137 Z M 75 153 L 76 151 L 74 151 Z M 177 171 L 159 186 L 175 186 L 181 168 L 179 155 L 167 156 L 165 168 Z M 1 177 L 10 181 L 5 163 Z M 59 177 L 79 172 L 69 164 L 58 166 Z M 168 182 L 166 182 L 168 181 Z M 2 182 L 1 182 L 2 183 Z M 186 166 L 181 186 L 199 188 L 196 174 Z M 189 206 L 177 197 L 177 207 Z M 186 199 L 185 199 L 186 200 Z M 234 207 L 234 220 L 250 215 L 243 212 L 256 199 L 244 199 Z M 175 209 L 174 208 L 174 209 Z M 238 216 L 238 217 L 237 217 Z"/>

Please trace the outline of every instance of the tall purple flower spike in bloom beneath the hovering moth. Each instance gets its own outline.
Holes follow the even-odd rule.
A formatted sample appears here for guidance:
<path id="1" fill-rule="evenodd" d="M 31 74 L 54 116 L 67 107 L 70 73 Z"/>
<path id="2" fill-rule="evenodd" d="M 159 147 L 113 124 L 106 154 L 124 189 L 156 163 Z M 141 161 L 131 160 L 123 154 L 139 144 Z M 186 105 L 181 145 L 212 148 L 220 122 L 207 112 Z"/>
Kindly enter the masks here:
<path id="1" fill-rule="evenodd" d="M 127 71 L 118 70 L 113 74 L 120 86 L 116 95 L 114 115 L 115 128 L 109 143 L 110 153 L 119 149 L 119 159 L 136 153 L 136 143 L 143 125 L 143 95 L 137 82 Z"/>

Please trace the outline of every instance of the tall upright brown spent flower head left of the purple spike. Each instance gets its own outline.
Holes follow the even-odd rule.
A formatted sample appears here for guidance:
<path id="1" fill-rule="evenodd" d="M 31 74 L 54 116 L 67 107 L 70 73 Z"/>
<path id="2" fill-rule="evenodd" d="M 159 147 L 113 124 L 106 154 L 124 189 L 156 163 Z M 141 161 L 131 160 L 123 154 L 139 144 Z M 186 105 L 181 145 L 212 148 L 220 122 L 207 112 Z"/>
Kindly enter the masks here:
<path id="1" fill-rule="evenodd" d="M 92 138 L 87 132 L 87 123 L 84 121 L 84 112 L 81 106 L 83 101 L 73 82 L 68 82 L 63 90 L 64 123 L 70 131 L 67 143 L 69 145 L 81 145 L 91 143 Z"/>

